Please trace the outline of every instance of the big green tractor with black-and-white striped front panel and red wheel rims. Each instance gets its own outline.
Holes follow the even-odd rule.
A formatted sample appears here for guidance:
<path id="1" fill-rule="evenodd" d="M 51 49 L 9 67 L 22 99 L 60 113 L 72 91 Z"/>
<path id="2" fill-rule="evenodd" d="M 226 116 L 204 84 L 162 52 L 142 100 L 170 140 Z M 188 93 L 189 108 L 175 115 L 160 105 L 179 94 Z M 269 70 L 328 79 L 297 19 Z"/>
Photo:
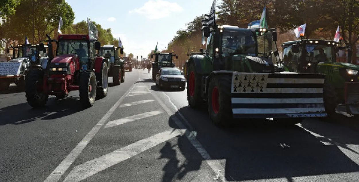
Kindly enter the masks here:
<path id="1" fill-rule="evenodd" d="M 206 51 L 188 60 L 187 100 L 192 108 L 207 105 L 215 125 L 249 118 L 292 125 L 327 116 L 325 75 L 275 72 L 276 29 L 214 23 L 202 30 Z"/>

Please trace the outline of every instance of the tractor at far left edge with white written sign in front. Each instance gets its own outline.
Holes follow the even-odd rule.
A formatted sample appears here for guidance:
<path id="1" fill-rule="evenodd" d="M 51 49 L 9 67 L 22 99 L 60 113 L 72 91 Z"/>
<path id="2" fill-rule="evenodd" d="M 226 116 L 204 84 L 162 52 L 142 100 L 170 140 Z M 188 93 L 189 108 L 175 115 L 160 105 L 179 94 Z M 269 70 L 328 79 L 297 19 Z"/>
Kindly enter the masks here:
<path id="1" fill-rule="evenodd" d="M 47 62 L 46 47 L 39 51 L 38 44 L 20 44 L 13 47 L 13 56 L 8 62 L 0 63 L 0 90 L 8 90 L 10 83 L 15 83 L 20 89 L 25 88 L 25 78 L 31 64 Z M 6 49 L 10 53 L 10 49 Z"/>

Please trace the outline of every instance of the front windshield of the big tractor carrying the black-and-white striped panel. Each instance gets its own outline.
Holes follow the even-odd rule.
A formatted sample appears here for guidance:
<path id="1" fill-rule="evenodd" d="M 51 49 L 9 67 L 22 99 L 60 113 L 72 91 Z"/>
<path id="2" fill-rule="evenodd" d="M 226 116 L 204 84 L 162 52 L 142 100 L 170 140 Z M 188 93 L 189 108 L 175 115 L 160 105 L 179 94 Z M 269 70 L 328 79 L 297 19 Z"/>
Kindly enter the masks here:
<path id="1" fill-rule="evenodd" d="M 222 35 L 222 52 L 224 54 L 256 54 L 256 41 L 253 33 L 225 30 Z"/>

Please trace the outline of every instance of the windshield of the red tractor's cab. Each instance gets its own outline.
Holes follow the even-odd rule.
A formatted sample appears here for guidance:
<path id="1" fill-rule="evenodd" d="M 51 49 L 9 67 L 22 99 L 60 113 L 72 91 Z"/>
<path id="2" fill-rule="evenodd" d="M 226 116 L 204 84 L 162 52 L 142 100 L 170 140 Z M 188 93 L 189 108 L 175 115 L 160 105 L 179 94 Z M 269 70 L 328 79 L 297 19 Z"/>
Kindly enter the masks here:
<path id="1" fill-rule="evenodd" d="M 57 55 L 77 54 L 80 59 L 89 57 L 88 42 L 83 40 L 60 40 L 57 47 Z"/>

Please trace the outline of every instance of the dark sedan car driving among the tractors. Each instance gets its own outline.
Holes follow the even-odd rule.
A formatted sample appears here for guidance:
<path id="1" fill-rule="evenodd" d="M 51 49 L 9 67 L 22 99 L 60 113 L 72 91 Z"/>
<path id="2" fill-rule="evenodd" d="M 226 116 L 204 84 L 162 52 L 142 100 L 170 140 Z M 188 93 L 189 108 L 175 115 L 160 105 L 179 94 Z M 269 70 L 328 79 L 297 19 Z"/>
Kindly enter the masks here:
<path id="1" fill-rule="evenodd" d="M 178 68 L 161 68 L 156 75 L 156 86 L 160 88 L 186 88 L 186 79 Z"/>

